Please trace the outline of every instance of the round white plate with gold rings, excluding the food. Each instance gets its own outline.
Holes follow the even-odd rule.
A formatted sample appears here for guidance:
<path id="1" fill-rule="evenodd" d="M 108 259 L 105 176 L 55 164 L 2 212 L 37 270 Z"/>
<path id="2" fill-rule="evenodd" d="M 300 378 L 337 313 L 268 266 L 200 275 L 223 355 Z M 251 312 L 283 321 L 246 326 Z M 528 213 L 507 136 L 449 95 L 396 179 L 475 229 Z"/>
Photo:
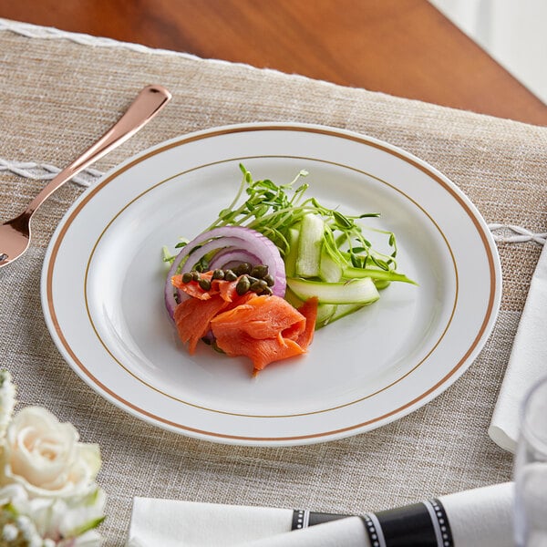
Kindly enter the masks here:
<path id="1" fill-rule="evenodd" d="M 161 247 L 232 201 L 240 162 L 278 183 L 308 170 L 310 196 L 380 212 L 368 224 L 397 234 L 398 268 L 419 286 L 391 284 L 255 378 L 243 358 L 189 356 L 163 307 Z M 246 445 L 337 439 L 421 407 L 478 355 L 500 296 L 495 244 L 453 183 L 376 139 L 294 124 L 194 133 L 125 162 L 67 212 L 42 275 L 48 328 L 89 386 L 161 428 Z"/>

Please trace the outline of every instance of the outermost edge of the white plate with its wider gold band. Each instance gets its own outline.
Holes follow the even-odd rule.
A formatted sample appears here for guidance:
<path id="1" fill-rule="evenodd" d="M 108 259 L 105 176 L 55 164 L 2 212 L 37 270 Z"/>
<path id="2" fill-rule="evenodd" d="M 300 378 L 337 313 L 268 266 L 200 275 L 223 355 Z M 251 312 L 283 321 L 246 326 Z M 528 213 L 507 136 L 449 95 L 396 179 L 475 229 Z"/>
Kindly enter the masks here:
<path id="1" fill-rule="evenodd" d="M 58 246 L 62 242 L 66 232 L 69 229 L 71 222 L 77 217 L 77 214 L 91 197 L 106 185 L 109 181 L 112 181 L 125 170 L 129 170 L 131 167 L 138 163 L 147 160 L 150 156 L 160 154 L 165 150 L 184 146 L 192 141 L 200 139 L 208 139 L 219 135 L 226 135 L 230 133 L 242 133 L 251 132 L 256 130 L 290 130 L 290 131 L 303 131 L 312 133 L 321 133 L 330 137 L 350 139 L 356 141 L 365 146 L 372 146 L 374 148 L 386 151 L 387 153 L 396 156 L 399 160 L 403 160 L 410 163 L 414 167 L 425 172 L 429 178 L 440 183 L 443 188 L 451 194 L 451 196 L 458 202 L 459 207 L 462 208 L 470 220 L 473 222 L 477 232 L 480 234 L 480 240 L 482 243 L 483 251 L 486 253 L 490 271 L 490 294 L 488 298 L 488 304 L 486 306 L 485 315 L 480 324 L 480 329 L 476 333 L 470 347 L 466 353 L 459 359 L 459 361 L 452 366 L 447 374 L 442 377 L 439 382 L 434 386 L 428 386 L 428 389 L 421 393 L 419 397 L 415 397 L 402 406 L 393 408 L 390 412 L 372 418 L 358 424 L 348 426 L 346 428 L 337 428 L 330 431 L 322 431 L 320 433 L 313 433 L 310 435 L 297 435 L 293 437 L 242 437 L 231 434 L 223 434 L 222 432 L 205 431 L 199 428 L 192 428 L 181 423 L 172 422 L 166 418 L 156 416 L 148 411 L 146 408 L 139 408 L 128 400 L 119 397 L 108 386 L 105 386 L 98 377 L 95 377 L 88 368 L 79 361 L 76 354 L 73 352 L 70 345 L 67 343 L 60 325 L 57 321 L 57 315 L 53 304 L 52 297 L 52 278 L 53 278 L 53 266 L 57 257 Z M 463 191 L 452 181 L 450 181 L 439 170 L 428 164 L 428 162 L 419 159 L 414 154 L 403 150 L 397 146 L 394 146 L 384 140 L 369 137 L 368 135 L 351 131 L 347 129 L 332 128 L 324 125 L 317 124 L 303 124 L 293 122 L 256 122 L 256 123 L 243 123 L 243 124 L 231 124 L 225 126 L 219 126 L 210 129 L 201 129 L 199 131 L 193 131 L 191 133 L 183 134 L 181 136 L 164 140 L 146 150 L 142 150 L 137 154 L 132 155 L 129 159 L 123 161 L 119 165 L 115 166 L 111 170 L 108 170 L 100 180 L 87 191 L 84 191 L 75 201 L 71 207 L 67 210 L 62 220 L 57 225 L 57 228 L 52 235 L 51 241 L 48 244 L 46 250 L 46 257 L 44 259 L 44 265 L 42 269 L 42 282 L 41 282 L 41 296 L 42 296 L 42 308 L 46 318 L 47 328 L 52 335 L 52 338 L 60 351 L 61 355 L 67 361 L 67 364 L 71 366 L 77 375 L 81 377 L 89 387 L 98 392 L 102 397 L 107 398 L 111 403 L 117 407 L 123 409 L 133 416 L 143 419 L 160 428 L 170 429 L 179 434 L 184 434 L 189 437 L 197 439 L 205 439 L 215 442 L 224 442 L 229 444 L 238 445 L 251 445 L 251 446 L 288 446 L 288 445 L 302 445 L 309 444 L 311 442 L 325 442 L 327 440 L 341 439 L 350 435 L 356 435 L 361 432 L 372 429 L 370 425 L 377 424 L 375 427 L 381 427 L 387 423 L 394 421 L 398 418 L 407 416 L 412 411 L 421 408 L 430 402 L 433 398 L 437 397 L 451 386 L 472 364 L 474 358 L 480 353 L 482 347 L 486 344 L 491 330 L 497 319 L 501 304 L 501 264 L 497 251 L 497 247 L 491 237 L 487 224 L 482 218 L 477 207 L 470 201 L 470 199 L 464 194 Z M 467 364 L 467 366 L 466 366 Z M 230 413 L 229 413 L 230 414 Z M 244 415 L 243 415 L 244 416 Z"/>

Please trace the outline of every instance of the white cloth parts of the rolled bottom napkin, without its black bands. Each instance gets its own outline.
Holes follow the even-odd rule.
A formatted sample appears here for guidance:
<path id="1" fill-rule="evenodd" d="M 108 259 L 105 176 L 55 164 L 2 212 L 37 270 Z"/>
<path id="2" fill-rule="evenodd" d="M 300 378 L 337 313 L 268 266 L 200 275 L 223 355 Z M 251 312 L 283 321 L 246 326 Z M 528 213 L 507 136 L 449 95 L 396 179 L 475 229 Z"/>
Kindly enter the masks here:
<path id="1" fill-rule="evenodd" d="M 512 547 L 513 483 L 465 490 L 439 501 L 455 547 Z M 292 521 L 291 509 L 135 498 L 128 547 L 372 547 L 358 517 L 290 532 Z M 439 522 L 442 547 L 444 522 Z"/>

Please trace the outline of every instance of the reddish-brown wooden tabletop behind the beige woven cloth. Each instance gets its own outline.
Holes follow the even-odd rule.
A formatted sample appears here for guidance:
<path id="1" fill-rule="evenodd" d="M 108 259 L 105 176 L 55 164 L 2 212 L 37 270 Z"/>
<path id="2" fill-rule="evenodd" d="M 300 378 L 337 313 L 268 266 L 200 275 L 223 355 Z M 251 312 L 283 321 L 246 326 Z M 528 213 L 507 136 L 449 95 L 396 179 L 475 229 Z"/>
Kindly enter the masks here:
<path id="1" fill-rule="evenodd" d="M 0 17 L 547 125 L 427 0 L 0 0 Z"/>

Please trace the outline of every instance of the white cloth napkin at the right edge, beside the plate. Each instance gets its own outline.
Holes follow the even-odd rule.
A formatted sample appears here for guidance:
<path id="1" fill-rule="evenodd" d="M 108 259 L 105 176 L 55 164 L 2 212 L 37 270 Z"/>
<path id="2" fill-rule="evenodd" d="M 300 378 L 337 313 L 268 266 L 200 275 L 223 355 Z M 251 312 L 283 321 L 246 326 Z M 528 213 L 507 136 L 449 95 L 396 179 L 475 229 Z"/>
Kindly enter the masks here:
<path id="1" fill-rule="evenodd" d="M 547 375 L 547 244 L 532 277 L 521 322 L 511 350 L 500 395 L 491 418 L 490 439 L 514 452 L 519 438 L 521 404 L 526 393 Z"/>

